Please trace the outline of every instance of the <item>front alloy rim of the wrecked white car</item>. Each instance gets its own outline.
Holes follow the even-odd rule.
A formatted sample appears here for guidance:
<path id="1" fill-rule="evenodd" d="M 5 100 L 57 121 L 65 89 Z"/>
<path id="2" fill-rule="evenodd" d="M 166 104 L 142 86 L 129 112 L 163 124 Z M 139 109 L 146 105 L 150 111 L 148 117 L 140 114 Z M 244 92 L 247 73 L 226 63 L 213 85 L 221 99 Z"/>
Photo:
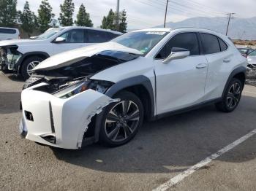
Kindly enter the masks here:
<path id="1" fill-rule="evenodd" d="M 133 101 L 114 105 L 105 120 L 105 133 L 111 141 L 124 141 L 135 132 L 140 121 L 140 110 Z"/>

